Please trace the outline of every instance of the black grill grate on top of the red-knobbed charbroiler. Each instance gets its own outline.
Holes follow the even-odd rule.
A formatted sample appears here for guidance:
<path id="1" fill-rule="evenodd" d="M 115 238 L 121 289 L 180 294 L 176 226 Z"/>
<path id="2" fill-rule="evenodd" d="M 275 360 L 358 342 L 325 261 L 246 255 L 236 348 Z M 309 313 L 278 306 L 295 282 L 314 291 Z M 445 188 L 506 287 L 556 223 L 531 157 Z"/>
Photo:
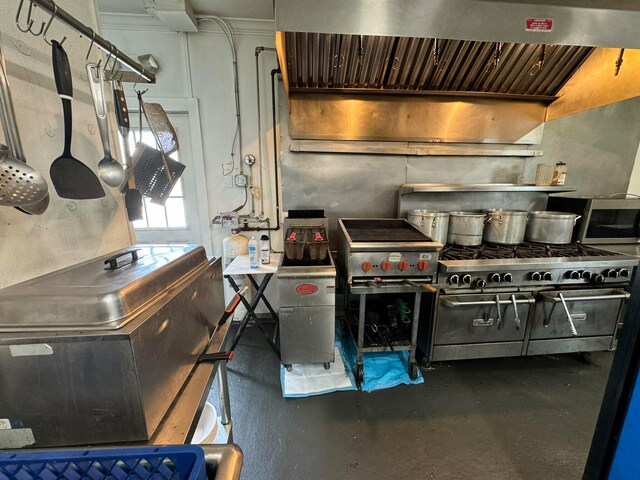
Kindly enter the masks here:
<path id="1" fill-rule="evenodd" d="M 405 220 L 343 220 L 353 242 L 430 242 Z"/>

